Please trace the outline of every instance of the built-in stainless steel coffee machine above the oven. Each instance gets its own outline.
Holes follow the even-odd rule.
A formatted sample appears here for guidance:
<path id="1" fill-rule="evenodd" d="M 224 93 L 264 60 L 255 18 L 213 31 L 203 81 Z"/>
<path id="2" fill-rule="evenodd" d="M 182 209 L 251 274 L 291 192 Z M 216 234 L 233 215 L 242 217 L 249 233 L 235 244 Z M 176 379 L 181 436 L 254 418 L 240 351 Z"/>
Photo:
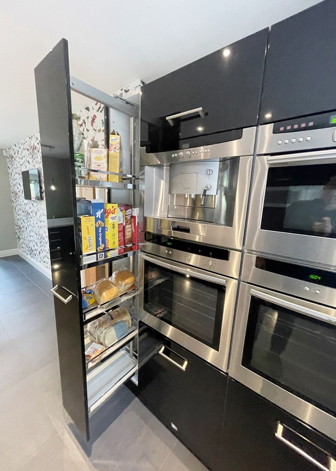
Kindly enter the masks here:
<path id="1" fill-rule="evenodd" d="M 209 145 L 141 148 L 140 229 L 242 249 L 255 134 L 251 127 L 221 133 L 220 143 L 214 135 L 203 138 Z"/>

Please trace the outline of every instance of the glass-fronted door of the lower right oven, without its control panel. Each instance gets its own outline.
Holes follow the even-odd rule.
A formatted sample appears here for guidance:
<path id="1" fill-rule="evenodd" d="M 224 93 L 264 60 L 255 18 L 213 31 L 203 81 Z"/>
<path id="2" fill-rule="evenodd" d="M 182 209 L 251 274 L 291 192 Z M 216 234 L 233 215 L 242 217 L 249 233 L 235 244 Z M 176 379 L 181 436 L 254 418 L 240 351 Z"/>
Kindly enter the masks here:
<path id="1" fill-rule="evenodd" d="M 336 310 L 242 283 L 229 375 L 336 440 Z"/>

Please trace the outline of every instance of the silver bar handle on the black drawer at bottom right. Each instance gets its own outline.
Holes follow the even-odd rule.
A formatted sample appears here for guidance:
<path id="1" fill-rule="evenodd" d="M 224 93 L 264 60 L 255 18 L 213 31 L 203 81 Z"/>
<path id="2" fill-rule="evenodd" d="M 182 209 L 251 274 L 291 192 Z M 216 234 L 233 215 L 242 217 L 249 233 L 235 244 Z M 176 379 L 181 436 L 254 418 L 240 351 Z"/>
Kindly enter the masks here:
<path id="1" fill-rule="evenodd" d="M 317 445 L 314 445 L 310 440 L 306 439 L 295 430 L 290 429 L 280 422 L 277 422 L 275 437 L 285 443 L 289 448 L 292 448 L 292 450 L 296 451 L 299 455 L 303 456 L 306 460 L 315 464 L 315 466 L 321 470 L 333 471 L 336 469 L 336 461 L 331 455 Z M 295 439 L 299 439 L 300 445 L 295 443 Z M 313 450 L 314 457 L 309 455 L 308 450 L 304 450 L 303 445 L 305 443 L 307 444 L 307 448 Z M 318 461 L 317 458 L 320 458 L 320 461 Z"/>

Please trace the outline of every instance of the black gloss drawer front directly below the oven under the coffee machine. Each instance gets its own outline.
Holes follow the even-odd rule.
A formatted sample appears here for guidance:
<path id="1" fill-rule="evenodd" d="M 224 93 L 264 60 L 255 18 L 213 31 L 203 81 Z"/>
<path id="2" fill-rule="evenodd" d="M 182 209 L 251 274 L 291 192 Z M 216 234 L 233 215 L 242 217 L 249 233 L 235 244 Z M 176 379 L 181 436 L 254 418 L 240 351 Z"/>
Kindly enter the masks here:
<path id="1" fill-rule="evenodd" d="M 147 326 L 139 360 L 141 401 L 206 466 L 219 469 L 227 376 Z"/>

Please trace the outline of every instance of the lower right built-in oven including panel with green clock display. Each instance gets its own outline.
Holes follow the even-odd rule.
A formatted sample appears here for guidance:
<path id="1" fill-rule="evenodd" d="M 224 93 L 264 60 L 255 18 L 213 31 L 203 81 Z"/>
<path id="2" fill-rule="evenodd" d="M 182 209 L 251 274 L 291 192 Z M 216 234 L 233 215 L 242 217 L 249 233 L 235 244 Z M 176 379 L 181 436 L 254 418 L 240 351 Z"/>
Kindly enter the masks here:
<path id="1" fill-rule="evenodd" d="M 244 254 L 229 375 L 336 440 L 336 271 Z"/>

